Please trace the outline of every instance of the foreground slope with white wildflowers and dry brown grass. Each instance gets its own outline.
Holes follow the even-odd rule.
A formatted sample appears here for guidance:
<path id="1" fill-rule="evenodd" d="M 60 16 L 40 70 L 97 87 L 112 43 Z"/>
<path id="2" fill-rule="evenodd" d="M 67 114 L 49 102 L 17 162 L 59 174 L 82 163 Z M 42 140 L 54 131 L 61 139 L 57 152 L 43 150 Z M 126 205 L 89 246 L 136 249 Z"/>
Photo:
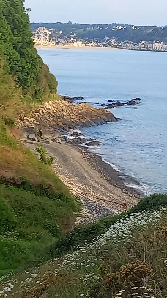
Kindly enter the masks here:
<path id="1" fill-rule="evenodd" d="M 167 200 L 162 195 L 157 205 L 156 196 L 150 199 L 155 209 L 144 211 L 144 199 L 138 210 L 113 220 L 103 234 L 94 234 L 90 244 L 78 241 L 75 251 L 8 276 L 0 293 L 8 288 L 8 297 L 16 298 L 165 298 Z M 91 229 L 87 227 L 87 235 Z"/>

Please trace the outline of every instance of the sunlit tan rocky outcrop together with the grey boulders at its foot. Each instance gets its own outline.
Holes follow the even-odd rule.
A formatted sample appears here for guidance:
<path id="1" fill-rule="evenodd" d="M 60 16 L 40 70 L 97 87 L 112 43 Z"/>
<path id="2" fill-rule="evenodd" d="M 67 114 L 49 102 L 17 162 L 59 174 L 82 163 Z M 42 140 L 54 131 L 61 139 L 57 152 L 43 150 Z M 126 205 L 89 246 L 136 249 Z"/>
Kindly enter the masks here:
<path id="1" fill-rule="evenodd" d="M 30 141 L 44 142 L 70 142 L 72 144 L 97 145 L 98 141 L 81 138 L 82 134 L 75 131 L 72 136 L 76 137 L 68 141 L 62 136 L 71 129 L 84 126 L 101 125 L 106 122 L 115 122 L 116 117 L 109 111 L 94 108 L 87 103 L 76 105 L 64 100 L 44 103 L 34 111 L 30 117 L 18 120 L 18 128 L 23 128 L 26 138 Z M 38 136 L 38 130 L 42 129 L 42 138 Z"/>

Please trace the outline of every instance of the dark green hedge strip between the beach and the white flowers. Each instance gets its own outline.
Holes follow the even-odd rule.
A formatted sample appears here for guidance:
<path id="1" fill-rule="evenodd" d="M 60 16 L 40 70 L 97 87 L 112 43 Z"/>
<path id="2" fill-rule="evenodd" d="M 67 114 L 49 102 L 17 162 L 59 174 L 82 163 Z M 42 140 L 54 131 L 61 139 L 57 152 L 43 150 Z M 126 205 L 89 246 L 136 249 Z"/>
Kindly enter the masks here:
<path id="1" fill-rule="evenodd" d="M 77 250 L 78 245 L 82 246 L 85 242 L 91 243 L 97 236 L 104 234 L 107 230 L 123 218 L 128 218 L 131 214 L 141 211 L 153 211 L 160 207 L 167 206 L 167 195 L 154 194 L 143 198 L 139 203 L 127 212 L 119 215 L 108 216 L 102 218 L 94 224 L 88 226 L 80 226 L 70 231 L 64 239 L 60 239 L 56 245 L 53 245 L 49 254 L 53 257 L 59 257 L 63 253 L 71 250 Z"/>

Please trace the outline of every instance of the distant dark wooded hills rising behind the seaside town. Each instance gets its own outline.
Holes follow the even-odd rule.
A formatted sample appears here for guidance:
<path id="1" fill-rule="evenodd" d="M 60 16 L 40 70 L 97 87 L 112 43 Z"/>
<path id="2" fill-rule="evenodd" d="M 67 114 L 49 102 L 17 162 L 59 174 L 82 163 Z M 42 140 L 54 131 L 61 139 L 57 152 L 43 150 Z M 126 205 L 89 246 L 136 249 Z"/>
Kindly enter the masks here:
<path id="1" fill-rule="evenodd" d="M 122 29 L 116 29 L 117 26 L 122 26 Z M 78 23 L 31 23 L 31 30 L 35 32 L 38 27 L 53 28 L 55 32 L 62 30 L 61 37 L 68 36 L 71 32 L 76 32 L 78 39 L 96 39 L 102 41 L 106 36 L 116 38 L 118 41 L 131 40 L 133 42 L 140 41 L 163 41 L 167 42 L 167 26 L 135 26 L 133 30 L 130 24 L 78 24 Z M 123 29 L 124 28 L 124 29 Z M 112 29 L 112 30 L 111 30 Z M 57 33 L 53 32 L 52 37 Z"/>

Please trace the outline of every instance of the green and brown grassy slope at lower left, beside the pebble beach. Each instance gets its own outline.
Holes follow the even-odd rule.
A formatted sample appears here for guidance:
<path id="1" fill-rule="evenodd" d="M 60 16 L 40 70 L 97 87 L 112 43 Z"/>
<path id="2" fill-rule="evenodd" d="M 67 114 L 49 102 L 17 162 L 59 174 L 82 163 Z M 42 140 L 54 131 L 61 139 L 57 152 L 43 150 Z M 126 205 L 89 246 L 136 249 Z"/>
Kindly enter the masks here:
<path id="1" fill-rule="evenodd" d="M 32 266 L 68 232 L 78 207 L 48 164 L 0 127 L 0 275 Z"/>

